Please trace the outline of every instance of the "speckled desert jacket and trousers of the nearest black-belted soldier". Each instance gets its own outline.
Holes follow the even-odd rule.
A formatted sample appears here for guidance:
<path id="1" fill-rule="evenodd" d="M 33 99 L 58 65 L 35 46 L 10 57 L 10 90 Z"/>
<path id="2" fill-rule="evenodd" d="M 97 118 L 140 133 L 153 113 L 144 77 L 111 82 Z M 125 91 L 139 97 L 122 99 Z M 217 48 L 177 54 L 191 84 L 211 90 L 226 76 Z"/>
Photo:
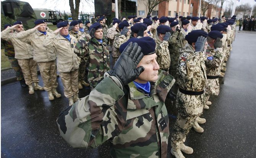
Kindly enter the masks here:
<path id="1" fill-rule="evenodd" d="M 181 52 L 178 59 L 178 85 L 187 91 L 202 91 L 206 85 L 206 66 L 202 52 L 194 52 L 190 44 Z M 186 95 L 178 90 L 176 107 L 178 116 L 174 125 L 171 145 L 176 150 L 180 148 L 183 139 L 189 133 L 193 122 L 203 112 L 204 94 Z"/>

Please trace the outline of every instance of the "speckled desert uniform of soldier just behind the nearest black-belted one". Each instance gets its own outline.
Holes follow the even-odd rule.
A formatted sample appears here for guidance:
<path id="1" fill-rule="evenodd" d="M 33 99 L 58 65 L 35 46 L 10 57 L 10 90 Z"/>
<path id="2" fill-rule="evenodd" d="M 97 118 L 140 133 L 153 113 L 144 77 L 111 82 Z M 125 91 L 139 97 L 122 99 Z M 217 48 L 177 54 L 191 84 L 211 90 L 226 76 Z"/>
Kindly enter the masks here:
<path id="1" fill-rule="evenodd" d="M 206 74 L 207 74 L 207 84 L 205 91 L 205 102 L 208 101 L 210 95 L 219 95 L 220 84 L 219 78 L 209 79 L 209 76 L 219 76 L 220 65 L 224 59 L 222 48 L 211 48 L 209 45 L 206 50 Z"/>

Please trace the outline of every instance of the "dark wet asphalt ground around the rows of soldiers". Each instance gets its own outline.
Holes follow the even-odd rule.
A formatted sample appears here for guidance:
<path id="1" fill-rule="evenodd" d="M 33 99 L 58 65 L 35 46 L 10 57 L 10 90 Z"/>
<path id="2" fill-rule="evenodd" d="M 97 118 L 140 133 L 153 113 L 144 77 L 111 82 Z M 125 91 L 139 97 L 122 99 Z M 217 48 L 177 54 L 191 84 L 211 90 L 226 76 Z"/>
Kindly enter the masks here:
<path id="1" fill-rule="evenodd" d="M 256 157 L 256 34 L 237 31 L 227 71 L 220 79 L 220 94 L 211 97 L 204 110 L 206 123 L 199 134 L 191 129 L 185 145 L 194 149 L 187 158 L 255 158 Z M 39 76 L 40 85 L 42 84 Z M 61 98 L 48 100 L 47 92 L 35 91 L 19 82 L 1 86 L 1 157 L 2 158 L 109 158 L 109 143 L 95 149 L 73 149 L 60 136 L 56 119 L 68 106 L 58 77 Z M 85 97 L 89 88 L 79 90 Z M 175 101 L 165 102 L 170 116 L 170 132 L 177 116 Z M 170 138 L 169 138 L 170 140 Z M 170 154 L 170 142 L 167 157 Z"/>

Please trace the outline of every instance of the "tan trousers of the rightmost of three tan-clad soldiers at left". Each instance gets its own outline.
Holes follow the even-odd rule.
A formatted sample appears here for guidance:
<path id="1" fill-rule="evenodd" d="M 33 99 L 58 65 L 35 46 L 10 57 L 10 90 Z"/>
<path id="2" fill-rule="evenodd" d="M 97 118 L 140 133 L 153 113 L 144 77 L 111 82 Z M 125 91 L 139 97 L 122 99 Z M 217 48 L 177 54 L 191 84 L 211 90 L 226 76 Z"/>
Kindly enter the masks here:
<path id="1" fill-rule="evenodd" d="M 69 73 L 60 73 L 60 79 L 64 87 L 65 97 L 72 97 L 78 94 L 78 70 Z"/>

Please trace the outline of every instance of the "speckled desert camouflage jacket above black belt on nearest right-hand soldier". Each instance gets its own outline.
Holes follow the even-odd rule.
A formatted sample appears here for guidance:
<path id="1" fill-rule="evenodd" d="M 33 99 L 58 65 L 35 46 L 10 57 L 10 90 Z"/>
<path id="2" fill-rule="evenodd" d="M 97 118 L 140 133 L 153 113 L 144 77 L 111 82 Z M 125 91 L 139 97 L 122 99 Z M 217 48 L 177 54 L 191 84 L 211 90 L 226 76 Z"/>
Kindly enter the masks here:
<path id="1" fill-rule="evenodd" d="M 201 91 L 206 85 L 206 66 L 202 52 L 194 52 L 190 44 L 178 59 L 177 81 L 181 89 Z"/>

